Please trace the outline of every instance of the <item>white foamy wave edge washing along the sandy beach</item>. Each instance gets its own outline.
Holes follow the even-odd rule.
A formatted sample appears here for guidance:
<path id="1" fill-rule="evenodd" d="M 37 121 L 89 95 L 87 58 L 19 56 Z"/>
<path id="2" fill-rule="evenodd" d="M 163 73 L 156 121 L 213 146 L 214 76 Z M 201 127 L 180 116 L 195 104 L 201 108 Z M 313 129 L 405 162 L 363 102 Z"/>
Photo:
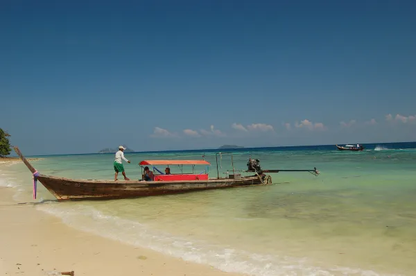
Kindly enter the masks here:
<path id="1" fill-rule="evenodd" d="M 371 270 L 347 267 L 320 268 L 308 264 L 307 259 L 279 255 L 260 255 L 207 244 L 204 241 L 191 241 L 180 236 L 154 230 L 142 223 L 129 221 L 116 216 L 106 216 L 93 207 L 77 205 L 65 206 L 58 202 L 45 202 L 37 209 L 58 216 L 64 223 L 79 230 L 121 241 L 130 245 L 162 252 L 185 261 L 209 264 L 229 273 L 244 273 L 255 276 L 278 275 L 365 275 L 379 276 Z"/>

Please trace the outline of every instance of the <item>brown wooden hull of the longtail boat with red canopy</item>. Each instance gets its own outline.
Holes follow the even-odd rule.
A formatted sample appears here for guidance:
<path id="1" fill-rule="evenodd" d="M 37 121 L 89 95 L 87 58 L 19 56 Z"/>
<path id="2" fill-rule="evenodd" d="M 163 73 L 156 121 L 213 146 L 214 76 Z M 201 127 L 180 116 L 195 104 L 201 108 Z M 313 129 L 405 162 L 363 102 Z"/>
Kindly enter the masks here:
<path id="1" fill-rule="evenodd" d="M 40 175 L 39 180 L 59 201 L 64 200 L 103 200 L 117 198 L 138 198 L 160 196 L 189 191 L 224 189 L 252 185 L 264 185 L 257 175 L 234 180 L 229 178 L 179 181 L 111 181 L 111 180 L 72 180 Z M 270 181 L 266 181 L 271 184 Z"/>

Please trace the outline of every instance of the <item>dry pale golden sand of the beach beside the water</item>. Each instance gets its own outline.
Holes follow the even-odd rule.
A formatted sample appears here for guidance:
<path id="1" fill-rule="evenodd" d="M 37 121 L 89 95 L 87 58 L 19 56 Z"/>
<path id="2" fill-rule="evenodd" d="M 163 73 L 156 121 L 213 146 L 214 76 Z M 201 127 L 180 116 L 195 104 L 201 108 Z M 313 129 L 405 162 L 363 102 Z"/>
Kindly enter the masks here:
<path id="1" fill-rule="evenodd" d="M 0 275 L 238 275 L 75 230 L 14 193 L 0 187 Z"/>

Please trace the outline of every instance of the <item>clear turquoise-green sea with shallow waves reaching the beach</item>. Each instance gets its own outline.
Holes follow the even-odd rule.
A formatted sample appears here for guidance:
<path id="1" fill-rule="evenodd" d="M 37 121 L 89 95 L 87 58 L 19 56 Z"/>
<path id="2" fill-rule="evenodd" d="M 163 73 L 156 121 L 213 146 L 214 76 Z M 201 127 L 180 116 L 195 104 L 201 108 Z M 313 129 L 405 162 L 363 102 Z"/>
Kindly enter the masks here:
<path id="1" fill-rule="evenodd" d="M 211 166 L 196 166 L 196 173 L 208 169 L 211 178 L 227 177 L 232 164 L 245 175 L 250 157 L 262 169 L 320 171 L 270 173 L 269 186 L 57 202 L 38 183 L 33 200 L 32 175 L 22 162 L 0 166 L 0 185 L 15 187 L 17 202 L 35 202 L 78 230 L 225 272 L 416 275 L 416 142 L 363 146 L 362 152 L 329 145 L 125 153 L 130 179 L 140 178 L 138 163 L 146 159 L 205 158 Z M 46 175 L 111 180 L 113 161 L 114 153 L 55 155 L 32 164 Z"/>

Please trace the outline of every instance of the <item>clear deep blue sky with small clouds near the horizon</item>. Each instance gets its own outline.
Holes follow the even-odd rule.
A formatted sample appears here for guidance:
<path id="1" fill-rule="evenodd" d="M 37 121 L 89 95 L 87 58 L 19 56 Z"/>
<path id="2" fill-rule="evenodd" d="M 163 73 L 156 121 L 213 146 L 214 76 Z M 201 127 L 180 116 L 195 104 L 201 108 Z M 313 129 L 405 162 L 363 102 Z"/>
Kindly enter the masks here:
<path id="1" fill-rule="evenodd" d="M 416 140 L 415 1 L 0 5 L 26 154 Z"/>

